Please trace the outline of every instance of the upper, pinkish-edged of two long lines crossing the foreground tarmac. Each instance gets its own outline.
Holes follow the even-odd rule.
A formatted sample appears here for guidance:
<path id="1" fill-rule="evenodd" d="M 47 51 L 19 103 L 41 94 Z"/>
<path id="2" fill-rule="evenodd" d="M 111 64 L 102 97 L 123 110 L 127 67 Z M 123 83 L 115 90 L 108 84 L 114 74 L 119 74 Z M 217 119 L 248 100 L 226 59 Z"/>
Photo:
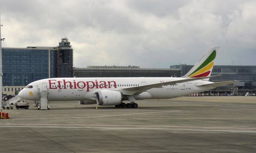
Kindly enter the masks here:
<path id="1" fill-rule="evenodd" d="M 104 124 L 0 124 L 0 125 L 45 125 L 45 126 L 124 126 L 124 127 L 171 127 L 171 128 L 209 128 L 209 129 L 256 129 L 256 128 L 231 128 L 231 127 L 206 127 L 206 126 L 143 126 L 143 125 L 104 125 Z"/>

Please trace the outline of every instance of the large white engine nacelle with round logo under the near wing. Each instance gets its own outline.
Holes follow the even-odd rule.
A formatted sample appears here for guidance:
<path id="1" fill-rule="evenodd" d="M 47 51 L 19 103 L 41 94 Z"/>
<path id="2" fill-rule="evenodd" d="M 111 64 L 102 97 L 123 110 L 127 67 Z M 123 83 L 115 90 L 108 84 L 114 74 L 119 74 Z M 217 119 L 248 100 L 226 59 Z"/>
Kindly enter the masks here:
<path id="1" fill-rule="evenodd" d="M 116 105 L 122 101 L 122 95 L 118 91 L 101 90 L 96 92 L 96 101 L 98 105 Z"/>

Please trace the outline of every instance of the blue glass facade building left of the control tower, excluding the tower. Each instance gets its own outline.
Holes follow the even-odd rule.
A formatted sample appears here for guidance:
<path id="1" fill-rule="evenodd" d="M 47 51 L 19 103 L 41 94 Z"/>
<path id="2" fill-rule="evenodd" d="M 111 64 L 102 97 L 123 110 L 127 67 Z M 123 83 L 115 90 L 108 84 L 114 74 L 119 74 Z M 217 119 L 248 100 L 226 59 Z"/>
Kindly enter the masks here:
<path id="1" fill-rule="evenodd" d="M 26 86 L 30 82 L 48 78 L 49 73 L 50 77 L 55 77 L 54 53 L 49 49 L 3 48 L 3 86 Z"/>

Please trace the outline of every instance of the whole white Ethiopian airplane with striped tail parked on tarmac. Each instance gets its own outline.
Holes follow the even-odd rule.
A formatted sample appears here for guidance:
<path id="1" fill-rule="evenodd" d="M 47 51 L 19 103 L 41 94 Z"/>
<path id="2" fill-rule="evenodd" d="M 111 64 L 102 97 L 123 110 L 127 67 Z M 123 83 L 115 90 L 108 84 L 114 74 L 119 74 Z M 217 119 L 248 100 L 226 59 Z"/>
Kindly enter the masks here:
<path id="1" fill-rule="evenodd" d="M 78 101 L 79 104 L 137 108 L 136 100 L 170 99 L 203 92 L 238 81 L 210 82 L 219 47 L 213 47 L 182 77 L 46 78 L 28 84 L 18 96 L 48 101 Z M 128 103 L 125 103 L 128 101 Z"/>

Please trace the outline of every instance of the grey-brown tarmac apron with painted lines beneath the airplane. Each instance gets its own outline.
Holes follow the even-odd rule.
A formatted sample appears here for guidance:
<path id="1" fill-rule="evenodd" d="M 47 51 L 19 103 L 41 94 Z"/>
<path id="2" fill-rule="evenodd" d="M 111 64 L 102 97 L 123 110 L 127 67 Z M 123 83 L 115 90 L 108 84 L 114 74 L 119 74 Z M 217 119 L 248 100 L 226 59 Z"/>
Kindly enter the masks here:
<path id="1" fill-rule="evenodd" d="M 32 104 L 4 110 L 11 119 L 0 120 L 0 153 L 256 152 L 256 96 L 140 100 L 138 108 Z"/>

